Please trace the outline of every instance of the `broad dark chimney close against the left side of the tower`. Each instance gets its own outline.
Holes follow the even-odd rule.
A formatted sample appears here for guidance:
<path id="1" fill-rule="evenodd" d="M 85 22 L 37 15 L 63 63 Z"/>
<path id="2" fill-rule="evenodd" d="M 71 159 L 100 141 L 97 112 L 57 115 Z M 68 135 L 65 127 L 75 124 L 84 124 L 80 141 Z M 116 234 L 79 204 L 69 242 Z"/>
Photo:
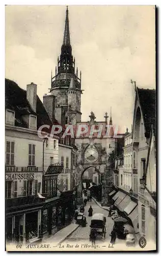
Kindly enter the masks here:
<path id="1" fill-rule="evenodd" d="M 51 118 L 52 122 L 55 119 L 55 96 L 44 94 L 43 96 L 43 105 Z"/>

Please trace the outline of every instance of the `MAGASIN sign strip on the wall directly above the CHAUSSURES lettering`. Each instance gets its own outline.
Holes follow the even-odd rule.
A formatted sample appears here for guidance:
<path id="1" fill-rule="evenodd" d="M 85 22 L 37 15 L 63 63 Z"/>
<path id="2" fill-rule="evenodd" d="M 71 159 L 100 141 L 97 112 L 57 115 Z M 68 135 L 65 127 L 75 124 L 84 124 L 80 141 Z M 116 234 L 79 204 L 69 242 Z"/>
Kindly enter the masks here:
<path id="1" fill-rule="evenodd" d="M 42 167 L 36 166 L 15 166 L 15 165 L 6 165 L 5 166 L 6 173 L 36 173 L 42 172 Z"/>

